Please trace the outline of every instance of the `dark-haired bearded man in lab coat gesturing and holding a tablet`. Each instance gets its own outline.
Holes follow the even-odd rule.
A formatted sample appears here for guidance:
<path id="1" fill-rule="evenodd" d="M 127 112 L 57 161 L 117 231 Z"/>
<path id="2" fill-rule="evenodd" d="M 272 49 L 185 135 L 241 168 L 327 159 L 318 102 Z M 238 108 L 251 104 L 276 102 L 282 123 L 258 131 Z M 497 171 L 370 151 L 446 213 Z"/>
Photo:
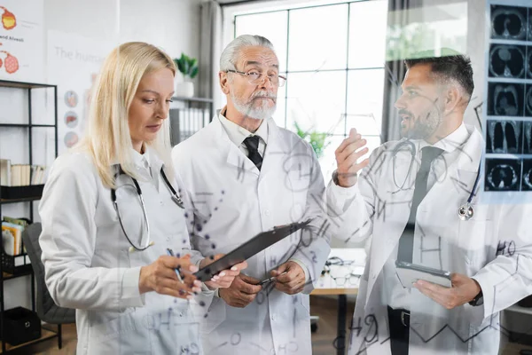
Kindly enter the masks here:
<path id="1" fill-rule="evenodd" d="M 469 59 L 433 53 L 405 64 L 395 102 L 404 138 L 360 162 L 366 142 L 351 130 L 327 188 L 338 236 L 372 235 L 349 354 L 497 354 L 499 312 L 532 293 L 530 209 L 479 201 L 484 140 L 463 122 Z M 405 285 L 396 261 L 449 271 L 451 287 L 426 274 Z"/>

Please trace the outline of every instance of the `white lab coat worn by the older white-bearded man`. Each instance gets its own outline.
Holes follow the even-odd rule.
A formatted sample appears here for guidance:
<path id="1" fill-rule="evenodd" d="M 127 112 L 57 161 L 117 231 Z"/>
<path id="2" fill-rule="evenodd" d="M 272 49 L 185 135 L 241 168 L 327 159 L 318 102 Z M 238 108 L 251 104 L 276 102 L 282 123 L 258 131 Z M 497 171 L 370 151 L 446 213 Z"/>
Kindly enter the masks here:
<path id="1" fill-rule="evenodd" d="M 268 146 L 262 170 L 233 144 L 217 117 L 206 128 L 174 147 L 172 159 L 192 201 L 189 217 L 194 249 L 205 256 L 227 253 L 275 225 L 315 217 L 317 233 L 326 223 L 320 206 L 325 191 L 316 155 L 288 130 L 268 121 Z M 329 233 L 300 243 L 299 233 L 247 260 L 244 270 L 262 280 L 291 256 L 305 264 L 314 282 L 329 254 Z M 299 244 L 298 244 L 299 243 Z M 214 247 L 214 248 L 213 248 Z M 297 248 L 296 248 L 297 247 Z M 301 354 L 312 352 L 309 284 L 289 296 L 262 289 L 246 308 L 214 297 L 202 319 L 202 342 L 209 354 Z"/>

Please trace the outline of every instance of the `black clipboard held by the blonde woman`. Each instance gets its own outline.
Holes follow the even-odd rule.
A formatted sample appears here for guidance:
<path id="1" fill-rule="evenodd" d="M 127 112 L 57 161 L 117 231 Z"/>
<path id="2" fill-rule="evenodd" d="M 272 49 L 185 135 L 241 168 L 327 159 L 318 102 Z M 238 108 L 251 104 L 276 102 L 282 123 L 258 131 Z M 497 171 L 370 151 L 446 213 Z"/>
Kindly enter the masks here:
<path id="1" fill-rule="evenodd" d="M 285 239 L 290 234 L 299 231 L 304 226 L 309 225 L 309 223 L 310 220 L 290 225 L 278 225 L 273 227 L 271 231 L 258 233 L 252 239 L 246 241 L 225 256 L 222 256 L 214 263 L 208 264 L 200 269 L 200 271 L 195 272 L 194 276 L 200 281 L 208 281 L 218 272 L 230 269 L 234 264 L 242 263 L 251 256 L 260 253 L 265 248 L 268 248 L 278 241 Z"/>

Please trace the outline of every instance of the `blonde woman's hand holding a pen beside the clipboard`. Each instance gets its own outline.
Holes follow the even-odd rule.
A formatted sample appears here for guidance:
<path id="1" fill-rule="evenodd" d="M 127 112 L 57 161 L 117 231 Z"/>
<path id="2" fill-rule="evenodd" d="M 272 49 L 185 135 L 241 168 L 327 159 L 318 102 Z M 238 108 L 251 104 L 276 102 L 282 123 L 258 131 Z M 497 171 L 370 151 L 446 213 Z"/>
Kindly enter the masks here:
<path id="1" fill-rule="evenodd" d="M 190 258 L 190 255 L 159 256 L 152 264 L 141 267 L 138 280 L 140 294 L 155 291 L 161 295 L 191 299 L 191 293 L 201 292 L 201 282 L 192 274 L 198 271 L 198 266 L 192 264 Z M 176 272 L 180 272 L 183 282 Z"/>

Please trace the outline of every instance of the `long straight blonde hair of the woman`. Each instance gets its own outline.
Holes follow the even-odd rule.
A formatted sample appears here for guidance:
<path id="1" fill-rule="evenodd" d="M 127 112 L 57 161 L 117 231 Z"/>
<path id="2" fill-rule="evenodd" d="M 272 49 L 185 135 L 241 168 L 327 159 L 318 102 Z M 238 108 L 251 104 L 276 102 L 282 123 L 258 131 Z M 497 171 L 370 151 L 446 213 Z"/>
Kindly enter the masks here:
<path id="1" fill-rule="evenodd" d="M 107 187 L 114 187 L 113 162 L 120 163 L 130 177 L 139 179 L 131 156 L 129 106 L 143 76 L 164 67 L 176 76 L 176 65 L 168 54 L 142 42 L 123 43 L 104 61 L 90 99 L 89 124 L 76 148 L 89 152 Z M 165 163 L 168 176 L 174 177 L 168 121 L 163 120 L 157 137 L 145 144 L 153 147 Z"/>

